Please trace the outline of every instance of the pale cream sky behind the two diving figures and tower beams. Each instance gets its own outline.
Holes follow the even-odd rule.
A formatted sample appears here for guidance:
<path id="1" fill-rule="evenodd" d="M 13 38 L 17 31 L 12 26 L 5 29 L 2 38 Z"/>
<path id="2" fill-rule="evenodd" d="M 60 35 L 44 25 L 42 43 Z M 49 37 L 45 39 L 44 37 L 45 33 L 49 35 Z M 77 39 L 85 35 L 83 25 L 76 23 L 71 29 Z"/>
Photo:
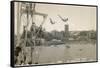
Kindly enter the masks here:
<path id="1" fill-rule="evenodd" d="M 15 9 L 17 10 L 17 9 Z M 43 28 L 50 32 L 53 30 L 62 31 L 64 30 L 64 25 L 69 25 L 69 31 L 82 31 L 82 30 L 96 30 L 96 7 L 86 7 L 86 6 L 72 6 L 72 5 L 55 5 L 55 4 L 40 4 L 37 3 L 35 7 L 36 12 L 47 14 L 47 18 L 43 24 Z M 17 13 L 15 13 L 17 14 Z M 62 18 L 68 18 L 67 22 L 63 22 Z M 55 21 L 55 24 L 51 24 L 49 18 Z M 17 33 L 17 18 L 15 17 L 15 33 Z M 26 23 L 26 15 L 23 14 L 21 18 L 20 33 L 23 32 L 23 25 Z M 43 21 L 42 16 L 35 15 L 33 18 L 37 26 Z M 31 17 L 29 20 L 31 26 Z"/>

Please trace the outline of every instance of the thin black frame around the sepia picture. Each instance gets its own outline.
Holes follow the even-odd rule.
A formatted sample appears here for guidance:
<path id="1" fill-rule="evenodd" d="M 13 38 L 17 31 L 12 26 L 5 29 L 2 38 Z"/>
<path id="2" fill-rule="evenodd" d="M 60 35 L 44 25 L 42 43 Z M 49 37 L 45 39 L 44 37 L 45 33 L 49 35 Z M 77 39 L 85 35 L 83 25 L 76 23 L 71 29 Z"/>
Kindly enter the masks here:
<path id="1" fill-rule="evenodd" d="M 27 2 L 27 3 L 41 3 L 41 4 L 54 4 L 54 5 L 70 5 L 70 6 L 84 6 L 84 7 L 96 7 L 96 61 L 87 62 L 72 62 L 72 63 L 55 63 L 55 64 L 36 64 L 36 65 L 18 65 L 14 63 L 14 3 L 15 2 Z M 10 66 L 11 67 L 30 67 L 30 66 L 47 66 L 47 65 L 60 65 L 60 64 L 76 64 L 76 63 L 91 63 L 98 62 L 98 6 L 97 5 L 82 5 L 82 4 L 66 4 L 66 3 L 52 3 L 52 2 L 35 2 L 35 1 L 11 1 L 10 2 Z"/>

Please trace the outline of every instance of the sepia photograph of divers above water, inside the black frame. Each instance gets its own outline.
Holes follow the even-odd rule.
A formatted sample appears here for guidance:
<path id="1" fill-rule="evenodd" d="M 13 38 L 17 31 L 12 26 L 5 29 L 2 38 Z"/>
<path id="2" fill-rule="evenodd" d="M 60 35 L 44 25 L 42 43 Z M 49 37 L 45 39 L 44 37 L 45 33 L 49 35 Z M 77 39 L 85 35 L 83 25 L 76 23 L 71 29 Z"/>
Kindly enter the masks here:
<path id="1" fill-rule="evenodd" d="M 14 3 L 14 65 L 97 61 L 97 7 Z"/>

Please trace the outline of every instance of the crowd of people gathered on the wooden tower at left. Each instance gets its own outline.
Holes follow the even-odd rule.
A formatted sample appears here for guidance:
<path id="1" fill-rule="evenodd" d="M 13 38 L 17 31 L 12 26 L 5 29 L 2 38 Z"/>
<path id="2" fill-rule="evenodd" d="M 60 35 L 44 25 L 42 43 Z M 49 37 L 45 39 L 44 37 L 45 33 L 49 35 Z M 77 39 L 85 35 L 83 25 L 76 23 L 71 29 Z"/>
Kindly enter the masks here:
<path id="1" fill-rule="evenodd" d="M 37 27 L 34 22 L 31 25 L 30 31 L 27 30 L 26 26 L 23 26 L 23 33 L 20 38 L 20 43 L 18 43 L 19 46 L 15 48 L 15 64 L 32 64 L 32 60 L 26 62 L 27 56 L 25 55 L 24 50 L 26 47 L 34 47 L 37 45 L 41 45 L 41 40 L 37 40 L 37 38 L 41 38 L 42 35 L 42 27 Z"/>

